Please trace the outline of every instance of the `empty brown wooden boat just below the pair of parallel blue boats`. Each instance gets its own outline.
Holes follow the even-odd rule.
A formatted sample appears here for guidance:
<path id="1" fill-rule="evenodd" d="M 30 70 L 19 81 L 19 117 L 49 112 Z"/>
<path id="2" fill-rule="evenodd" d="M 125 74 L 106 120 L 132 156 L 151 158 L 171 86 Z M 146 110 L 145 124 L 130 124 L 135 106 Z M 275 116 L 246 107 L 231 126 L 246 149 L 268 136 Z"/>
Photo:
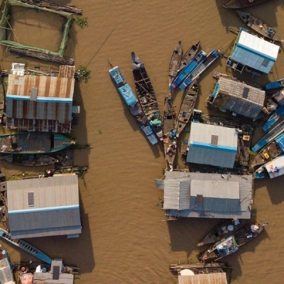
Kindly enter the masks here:
<path id="1" fill-rule="evenodd" d="M 178 121 L 177 121 L 177 137 L 180 136 L 180 132 L 185 129 L 188 121 L 190 121 L 190 117 L 192 116 L 192 112 L 195 109 L 195 103 L 197 101 L 198 95 L 198 84 L 197 80 L 192 82 L 190 86 L 185 89 L 185 92 L 182 97 L 182 102 L 180 104 L 180 109 L 178 111 Z"/>

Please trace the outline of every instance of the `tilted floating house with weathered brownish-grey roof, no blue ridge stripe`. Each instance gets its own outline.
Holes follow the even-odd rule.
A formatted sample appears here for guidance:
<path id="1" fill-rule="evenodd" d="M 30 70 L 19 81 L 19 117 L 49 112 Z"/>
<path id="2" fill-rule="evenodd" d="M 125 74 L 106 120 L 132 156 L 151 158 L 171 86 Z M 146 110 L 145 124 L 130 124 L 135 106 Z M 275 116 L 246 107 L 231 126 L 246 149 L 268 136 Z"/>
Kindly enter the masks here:
<path id="1" fill-rule="evenodd" d="M 261 113 L 266 92 L 243 82 L 220 77 L 214 92 L 207 96 L 207 103 L 221 111 L 231 111 L 250 119 Z"/>

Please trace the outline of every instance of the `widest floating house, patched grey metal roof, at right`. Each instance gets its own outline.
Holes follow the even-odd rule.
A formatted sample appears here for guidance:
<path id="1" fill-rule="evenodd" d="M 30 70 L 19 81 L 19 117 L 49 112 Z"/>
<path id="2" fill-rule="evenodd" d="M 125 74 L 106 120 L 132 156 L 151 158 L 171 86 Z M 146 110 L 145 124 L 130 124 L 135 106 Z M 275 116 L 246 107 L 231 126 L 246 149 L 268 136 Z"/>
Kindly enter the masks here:
<path id="1" fill-rule="evenodd" d="M 252 182 L 252 175 L 166 171 L 165 178 L 155 180 L 155 185 L 164 190 L 166 220 L 250 219 Z"/>

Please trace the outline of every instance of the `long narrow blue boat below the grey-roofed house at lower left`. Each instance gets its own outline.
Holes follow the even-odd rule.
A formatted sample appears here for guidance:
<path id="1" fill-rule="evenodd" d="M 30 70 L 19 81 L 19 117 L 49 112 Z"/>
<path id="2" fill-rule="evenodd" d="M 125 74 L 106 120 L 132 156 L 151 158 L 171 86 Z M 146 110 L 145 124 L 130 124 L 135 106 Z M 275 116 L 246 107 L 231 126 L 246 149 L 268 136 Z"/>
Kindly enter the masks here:
<path id="1" fill-rule="evenodd" d="M 50 264 L 52 261 L 50 257 L 46 256 L 43 252 L 36 249 L 31 244 L 28 244 L 26 241 L 23 241 L 23 239 L 11 239 L 11 236 L 8 233 L 8 231 L 5 231 L 4 229 L 1 229 L 1 228 L 0 228 L 0 237 L 4 239 L 5 241 L 8 241 L 9 244 L 13 244 L 13 246 L 17 246 L 18 249 L 26 251 L 26 253 L 30 253 L 35 258 L 39 258 L 41 261 L 44 261 L 48 264 Z"/>

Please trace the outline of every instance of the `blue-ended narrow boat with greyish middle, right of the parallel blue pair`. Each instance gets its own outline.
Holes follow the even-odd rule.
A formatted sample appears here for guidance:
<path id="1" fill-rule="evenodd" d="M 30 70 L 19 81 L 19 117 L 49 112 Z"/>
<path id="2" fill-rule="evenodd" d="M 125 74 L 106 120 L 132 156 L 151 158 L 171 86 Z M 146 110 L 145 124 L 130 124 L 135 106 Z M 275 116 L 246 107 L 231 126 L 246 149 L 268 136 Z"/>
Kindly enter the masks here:
<path id="1" fill-rule="evenodd" d="M 183 80 L 182 84 L 180 84 L 180 89 L 185 89 L 187 86 L 189 86 L 193 80 L 197 79 L 204 70 L 206 70 L 212 63 L 217 60 L 217 58 L 220 57 L 220 53 L 218 50 L 214 49 L 207 55 L 204 61 L 198 65 L 193 72 L 191 72 L 190 75 L 188 75 L 185 80 Z"/>

